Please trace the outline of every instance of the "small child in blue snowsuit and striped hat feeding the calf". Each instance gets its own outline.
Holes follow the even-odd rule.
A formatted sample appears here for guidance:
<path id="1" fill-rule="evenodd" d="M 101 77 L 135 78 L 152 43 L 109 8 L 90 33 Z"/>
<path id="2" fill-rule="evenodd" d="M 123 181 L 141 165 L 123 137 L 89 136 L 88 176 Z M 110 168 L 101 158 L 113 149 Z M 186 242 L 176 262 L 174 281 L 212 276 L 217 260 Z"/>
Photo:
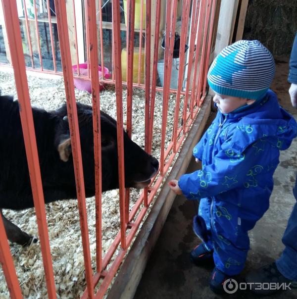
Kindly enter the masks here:
<path id="1" fill-rule="evenodd" d="M 218 113 L 193 150 L 202 169 L 169 183 L 175 193 L 200 199 L 193 227 L 202 243 L 191 258 L 196 264 L 213 258 L 215 293 L 243 270 L 247 232 L 269 207 L 279 152 L 297 136 L 296 121 L 269 90 L 274 73 L 274 59 L 258 41 L 219 53 L 207 75 Z"/>

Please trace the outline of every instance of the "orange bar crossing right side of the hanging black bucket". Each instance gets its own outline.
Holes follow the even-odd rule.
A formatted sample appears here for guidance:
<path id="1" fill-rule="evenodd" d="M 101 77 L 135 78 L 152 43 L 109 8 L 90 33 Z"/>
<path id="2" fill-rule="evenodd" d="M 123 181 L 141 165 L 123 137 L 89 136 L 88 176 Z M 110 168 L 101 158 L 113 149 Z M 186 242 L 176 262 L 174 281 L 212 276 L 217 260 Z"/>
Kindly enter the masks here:
<path id="1" fill-rule="evenodd" d="M 181 41 L 180 41 L 180 54 L 179 54 L 179 72 L 178 72 L 178 85 L 177 85 L 177 94 L 176 94 L 176 103 L 174 110 L 174 124 L 173 124 L 173 151 L 177 151 L 177 127 L 178 127 L 178 117 L 180 111 L 180 99 L 181 99 L 181 90 L 184 80 L 184 70 L 185 70 L 185 45 L 188 35 L 188 23 L 189 23 L 189 11 L 190 11 L 190 0 L 185 0 L 182 10 L 182 27 L 181 27 Z"/>

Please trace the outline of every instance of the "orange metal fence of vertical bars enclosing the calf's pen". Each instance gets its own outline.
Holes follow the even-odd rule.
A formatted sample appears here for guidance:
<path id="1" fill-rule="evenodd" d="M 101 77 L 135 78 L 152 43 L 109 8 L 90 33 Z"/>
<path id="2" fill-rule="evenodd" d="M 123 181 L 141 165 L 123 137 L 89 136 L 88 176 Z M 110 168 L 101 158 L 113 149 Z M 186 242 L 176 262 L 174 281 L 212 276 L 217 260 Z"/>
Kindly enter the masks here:
<path id="1" fill-rule="evenodd" d="M 77 198 L 81 225 L 81 236 L 83 244 L 86 290 L 82 298 L 102 298 L 108 286 L 111 283 L 117 269 L 122 262 L 127 249 L 148 210 L 150 203 L 156 195 L 168 169 L 172 166 L 173 160 L 177 155 L 187 132 L 189 131 L 193 121 L 195 120 L 199 108 L 206 95 L 206 74 L 210 59 L 212 46 L 212 36 L 214 30 L 214 17 L 217 8 L 216 0 L 183 0 L 180 24 L 180 50 L 179 50 L 179 72 L 178 84 L 176 89 L 170 88 L 171 69 L 174 54 L 174 36 L 178 19 L 178 0 L 164 2 L 162 0 L 146 0 L 145 1 L 145 24 L 143 24 L 144 0 L 141 1 L 140 11 L 140 29 L 135 26 L 135 1 L 127 0 L 127 34 L 126 48 L 127 50 L 127 78 L 122 80 L 122 40 L 121 40 L 121 15 L 120 2 L 112 0 L 112 78 L 106 79 L 104 73 L 99 78 L 98 65 L 99 60 L 101 67 L 104 67 L 103 53 L 103 21 L 102 1 L 86 0 L 84 3 L 85 14 L 85 37 L 86 37 L 86 57 L 87 57 L 87 75 L 82 75 L 79 70 L 79 54 L 78 54 L 78 37 L 76 24 L 76 3 L 72 0 L 73 9 L 73 28 L 74 28 L 74 45 L 75 53 L 71 54 L 69 43 L 69 13 L 67 15 L 66 1 L 54 1 L 54 14 L 51 16 L 52 1 L 44 1 L 44 9 L 47 13 L 49 23 L 49 36 L 51 45 L 52 70 L 44 67 L 42 50 L 40 46 L 39 27 L 38 27 L 38 11 L 36 0 L 34 5 L 34 23 L 36 35 L 38 37 L 38 53 L 39 68 L 36 66 L 36 57 L 32 47 L 29 22 L 27 15 L 26 1 L 22 0 L 24 11 L 25 31 L 24 37 L 27 38 L 28 52 L 30 56 L 31 67 L 27 69 L 38 70 L 42 72 L 62 74 L 65 83 L 65 95 L 67 101 L 67 111 L 69 119 L 69 127 L 71 133 L 71 144 L 74 161 L 75 179 L 77 186 Z M 152 3 L 154 5 L 152 5 Z M 157 87 L 157 63 L 160 55 L 160 28 L 162 5 L 166 4 L 165 17 L 165 50 L 164 50 L 164 78 L 163 88 Z M 165 5 L 164 4 L 164 5 Z M 105 4 L 104 4 L 105 5 Z M 22 107 L 21 123 L 26 146 L 26 154 L 30 171 L 31 186 L 34 196 L 34 205 L 36 209 L 39 238 L 42 249 L 42 256 L 45 268 L 45 276 L 48 289 L 48 297 L 56 298 L 54 275 L 52 269 L 52 261 L 50 255 L 49 235 L 47 229 L 47 220 L 45 213 L 44 197 L 42 190 L 42 182 L 40 176 L 39 160 L 37 154 L 37 145 L 35 139 L 32 110 L 29 97 L 29 88 L 26 76 L 26 65 L 24 60 L 24 52 L 22 46 L 22 37 L 20 30 L 20 20 L 17 10 L 16 0 L 2 0 L 2 7 L 6 23 L 7 37 L 9 43 L 11 64 L 14 70 L 17 95 Z M 152 7 L 154 9 L 152 9 Z M 154 27 L 151 26 L 154 19 Z M 61 69 L 58 70 L 56 62 L 57 45 L 55 45 L 53 31 L 56 30 L 52 23 L 56 23 L 59 43 L 59 55 L 61 57 Z M 97 25 L 98 24 L 98 25 Z M 106 24 L 105 24 L 106 25 Z M 33 28 L 31 26 L 31 28 Z M 145 28 L 145 29 L 143 29 Z M 163 32 L 162 32 L 163 33 Z M 99 34 L 99 40 L 98 40 Z M 133 82 L 134 67 L 134 44 L 135 36 L 139 36 L 139 63 L 137 82 Z M 141 59 L 142 59 L 142 43 L 143 34 L 145 34 L 145 81 L 141 82 Z M 152 38 L 150 38 L 152 36 Z M 189 50 L 186 52 L 186 44 Z M 99 47 L 98 47 L 99 45 Z M 77 64 L 77 74 L 73 75 L 72 64 L 75 57 Z M 185 78 L 184 78 L 185 76 Z M 76 100 L 74 94 L 74 77 L 91 80 L 92 83 L 92 100 L 93 100 L 93 130 L 94 130 L 94 153 L 95 153 L 95 174 L 96 174 L 96 270 L 92 269 L 90 241 L 88 234 L 88 222 L 86 211 L 86 198 L 84 187 L 84 174 L 82 167 L 82 156 L 80 151 L 80 137 L 78 128 L 78 119 L 76 111 Z M 120 231 L 113 240 L 107 253 L 102 256 L 102 238 L 101 238 L 101 137 L 100 137 L 100 95 L 99 84 L 109 83 L 115 85 L 116 92 L 116 110 L 117 110 L 117 147 L 118 147 L 118 171 L 119 171 L 119 199 L 120 199 Z M 152 147 L 153 136 L 153 116 L 155 108 L 156 91 L 163 91 L 163 107 L 162 107 L 162 131 L 160 146 L 160 169 L 158 177 L 152 180 L 150 187 L 145 188 L 136 204 L 129 212 L 129 190 L 125 190 L 124 180 L 124 151 L 123 151 L 123 84 L 127 88 L 127 121 L 126 130 L 131 137 L 132 132 L 132 106 L 133 106 L 133 88 L 139 87 L 145 89 L 145 150 L 150 153 Z M 170 93 L 176 94 L 174 124 L 171 141 L 165 146 L 165 134 L 168 114 L 168 101 Z M 182 104 L 182 111 L 180 105 Z M 182 113 L 180 113 L 182 112 Z M 180 116 L 181 114 L 181 116 Z M 152 187 L 153 186 L 153 187 Z M 137 215 L 138 213 L 138 215 Z M 135 217 L 137 215 L 137 217 Z M 115 254 L 116 249 L 118 253 Z M 111 261 L 113 259 L 113 261 Z M 0 262 L 7 282 L 11 298 L 21 298 L 21 289 L 14 270 L 13 259 L 11 257 L 9 246 L 6 241 L 6 235 L 3 228 L 2 219 L 0 217 Z M 19 277 L 21 281 L 21 277 Z M 95 288 L 99 285 L 95 293 Z"/>

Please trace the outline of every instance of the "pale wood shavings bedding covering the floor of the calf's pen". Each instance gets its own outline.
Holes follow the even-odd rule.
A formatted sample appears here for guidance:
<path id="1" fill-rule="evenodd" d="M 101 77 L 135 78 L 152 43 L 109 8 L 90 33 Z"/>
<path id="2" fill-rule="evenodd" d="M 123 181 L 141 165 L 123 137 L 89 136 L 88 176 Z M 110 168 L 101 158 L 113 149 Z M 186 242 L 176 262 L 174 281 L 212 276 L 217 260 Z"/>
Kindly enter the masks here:
<path id="1" fill-rule="evenodd" d="M 46 110 L 56 109 L 65 102 L 63 78 L 45 79 L 38 76 L 28 76 L 32 106 Z M 2 95 L 13 95 L 16 90 L 13 73 L 0 72 L 0 90 Z M 76 100 L 92 104 L 89 93 L 75 90 Z M 123 119 L 126 121 L 126 90 L 123 90 Z M 100 93 L 100 109 L 116 119 L 115 90 L 113 86 Z M 156 94 L 153 126 L 152 155 L 160 157 L 161 127 L 162 127 L 162 93 Z M 166 145 L 171 140 L 173 128 L 175 96 L 171 95 L 168 104 L 168 119 Z M 181 100 L 181 107 L 183 100 Z M 180 109 L 182 110 L 182 109 Z M 132 111 L 132 140 L 144 148 L 145 138 L 145 92 L 134 89 Z M 169 171 L 170 172 L 170 169 Z M 140 195 L 140 191 L 131 189 L 130 209 Z M 95 199 L 86 199 L 90 249 L 92 266 L 96 265 L 96 229 L 95 229 Z M 148 208 L 149 210 L 149 208 Z M 4 215 L 23 231 L 38 236 L 38 228 L 34 208 L 13 211 L 3 210 Z M 46 205 L 49 228 L 50 250 L 57 298 L 80 298 L 86 288 L 84 275 L 84 258 L 81 244 L 80 222 L 77 200 L 61 200 Z M 120 229 L 119 192 L 108 191 L 102 194 L 102 255 L 109 249 Z M 39 242 L 30 247 L 22 248 L 10 244 L 14 264 L 19 278 L 24 298 L 46 298 L 47 288 L 42 255 Z M 2 269 L 0 269 L 0 298 L 9 298 Z"/>

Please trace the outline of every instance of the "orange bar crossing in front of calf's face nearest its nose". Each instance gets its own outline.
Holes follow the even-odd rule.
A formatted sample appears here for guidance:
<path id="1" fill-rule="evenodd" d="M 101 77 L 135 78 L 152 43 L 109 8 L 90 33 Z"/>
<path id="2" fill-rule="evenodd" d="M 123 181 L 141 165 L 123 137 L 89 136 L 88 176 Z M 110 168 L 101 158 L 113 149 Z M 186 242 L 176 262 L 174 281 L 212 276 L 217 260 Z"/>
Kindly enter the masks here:
<path id="1" fill-rule="evenodd" d="M 121 219 L 121 248 L 126 249 L 126 214 L 125 214 L 125 172 L 124 172 L 124 140 L 123 140 L 123 87 L 121 63 L 121 33 L 120 33 L 120 7 L 119 1 L 112 0 L 113 23 L 113 52 L 115 70 L 115 95 L 117 114 L 117 149 L 119 165 L 119 196 Z"/>

